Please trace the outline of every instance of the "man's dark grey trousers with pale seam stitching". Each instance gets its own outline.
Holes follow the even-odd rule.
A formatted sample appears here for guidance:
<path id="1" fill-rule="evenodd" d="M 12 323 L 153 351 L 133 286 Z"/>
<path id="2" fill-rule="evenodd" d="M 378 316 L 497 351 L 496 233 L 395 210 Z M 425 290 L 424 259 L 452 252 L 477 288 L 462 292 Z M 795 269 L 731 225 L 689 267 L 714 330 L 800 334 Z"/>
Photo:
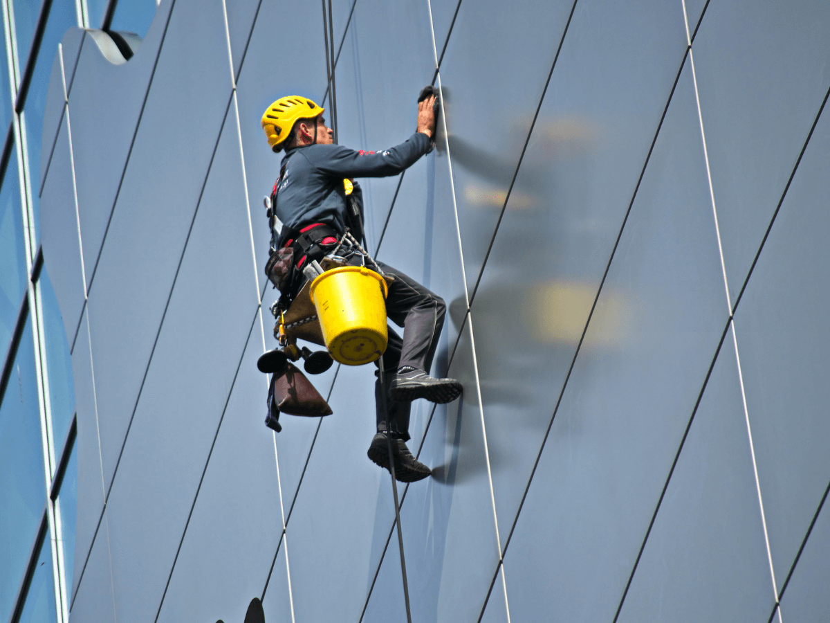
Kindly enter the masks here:
<path id="1" fill-rule="evenodd" d="M 383 357 L 375 361 L 378 380 L 374 384 L 378 432 L 391 430 L 400 439 L 409 439 L 409 410 L 412 403 L 389 398 L 389 383 L 404 365 L 424 370 L 432 367 L 432 358 L 444 326 L 447 305 L 441 297 L 427 290 L 403 272 L 378 262 L 383 272 L 395 277 L 386 297 L 386 315 L 403 326 L 403 338 L 388 327 L 388 346 Z M 383 361 L 383 375 L 380 365 Z"/>

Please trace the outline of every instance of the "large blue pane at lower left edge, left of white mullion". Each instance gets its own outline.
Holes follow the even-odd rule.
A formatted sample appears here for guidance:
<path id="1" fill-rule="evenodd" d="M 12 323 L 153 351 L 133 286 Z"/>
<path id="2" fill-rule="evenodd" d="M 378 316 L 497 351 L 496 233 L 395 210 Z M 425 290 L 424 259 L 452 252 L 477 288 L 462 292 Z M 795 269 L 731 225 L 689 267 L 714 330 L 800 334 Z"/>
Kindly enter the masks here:
<path id="1" fill-rule="evenodd" d="M 46 502 L 32 320 L 0 405 L 0 621 L 7 621 Z"/>

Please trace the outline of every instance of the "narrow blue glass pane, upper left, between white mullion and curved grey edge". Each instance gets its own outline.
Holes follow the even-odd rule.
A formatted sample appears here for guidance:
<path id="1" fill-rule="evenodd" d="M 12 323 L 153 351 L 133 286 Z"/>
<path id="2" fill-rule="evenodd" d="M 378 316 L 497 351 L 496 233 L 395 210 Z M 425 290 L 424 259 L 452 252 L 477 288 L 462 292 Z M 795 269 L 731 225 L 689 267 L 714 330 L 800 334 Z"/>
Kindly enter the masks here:
<path id="1" fill-rule="evenodd" d="M 26 120 L 26 138 L 29 150 L 29 179 L 37 185 L 41 179 L 41 135 L 43 134 L 43 111 L 46 110 L 46 90 L 49 88 L 49 74 L 52 61 L 67 28 L 77 25 L 75 3 L 69 0 L 55 0 L 49 11 L 49 21 L 37 54 L 32 83 L 26 96 L 23 115 Z M 35 236 L 41 237 L 40 198 L 32 194 L 35 210 Z"/>

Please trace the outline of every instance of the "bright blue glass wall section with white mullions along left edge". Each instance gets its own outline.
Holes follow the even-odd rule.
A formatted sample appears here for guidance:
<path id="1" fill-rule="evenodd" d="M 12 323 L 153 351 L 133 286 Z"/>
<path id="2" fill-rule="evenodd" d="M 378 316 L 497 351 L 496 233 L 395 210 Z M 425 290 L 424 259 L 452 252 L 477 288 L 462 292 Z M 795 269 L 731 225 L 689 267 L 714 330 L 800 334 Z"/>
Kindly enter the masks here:
<path id="1" fill-rule="evenodd" d="M 122 6 L 123 5 L 123 6 Z M 71 27 L 144 37 L 158 2 L 0 0 L 0 621 L 69 621 L 77 498 L 71 352 L 40 248 L 43 109 Z"/>

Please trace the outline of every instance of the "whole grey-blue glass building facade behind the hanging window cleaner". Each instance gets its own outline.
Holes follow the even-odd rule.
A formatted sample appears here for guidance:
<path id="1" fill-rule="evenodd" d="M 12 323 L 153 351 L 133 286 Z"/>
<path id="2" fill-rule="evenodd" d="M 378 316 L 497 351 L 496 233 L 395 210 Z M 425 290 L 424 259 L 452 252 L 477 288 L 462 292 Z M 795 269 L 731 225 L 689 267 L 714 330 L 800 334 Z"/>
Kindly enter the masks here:
<path id="1" fill-rule="evenodd" d="M 32 65 L 5 6 L 12 621 L 823 620 L 830 7 L 71 4 Z M 437 149 L 362 182 L 465 388 L 413 405 L 396 505 L 371 366 L 262 423 L 259 118 L 309 96 L 380 150 L 430 83 Z"/>

